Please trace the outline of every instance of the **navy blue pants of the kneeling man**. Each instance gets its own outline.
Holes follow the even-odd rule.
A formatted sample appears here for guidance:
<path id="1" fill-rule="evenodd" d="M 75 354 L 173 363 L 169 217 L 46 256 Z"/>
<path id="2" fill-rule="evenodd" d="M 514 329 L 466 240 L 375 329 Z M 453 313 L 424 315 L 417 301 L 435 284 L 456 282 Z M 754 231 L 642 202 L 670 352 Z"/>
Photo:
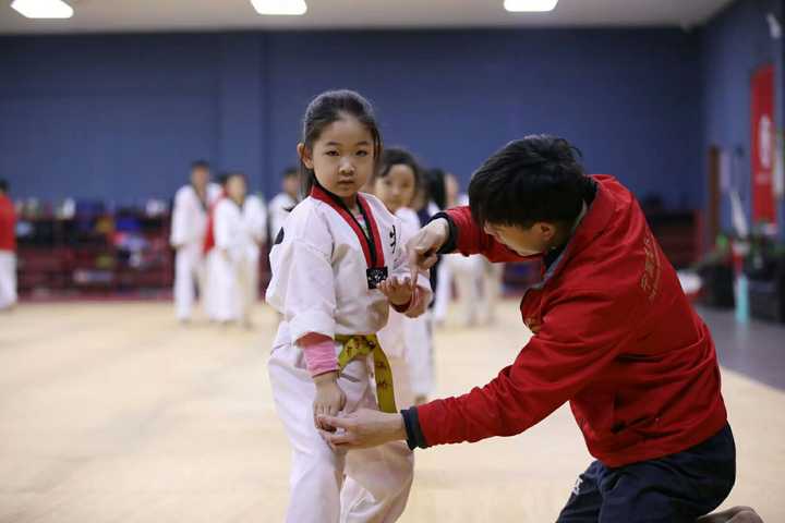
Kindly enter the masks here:
<path id="1" fill-rule="evenodd" d="M 558 523 L 695 523 L 723 502 L 736 481 L 730 425 L 692 448 L 580 475 Z"/>

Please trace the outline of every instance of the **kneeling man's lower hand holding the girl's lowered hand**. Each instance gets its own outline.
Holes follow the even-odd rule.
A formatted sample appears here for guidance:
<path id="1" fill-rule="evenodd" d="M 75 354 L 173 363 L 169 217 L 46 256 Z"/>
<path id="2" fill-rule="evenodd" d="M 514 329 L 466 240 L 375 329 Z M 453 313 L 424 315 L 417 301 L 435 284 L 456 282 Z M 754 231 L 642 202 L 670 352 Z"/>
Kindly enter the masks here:
<path id="1" fill-rule="evenodd" d="M 334 449 L 367 449 L 406 439 L 403 416 L 372 409 L 360 409 L 345 416 L 317 416 L 322 437 Z M 342 429 L 342 430 L 338 430 Z"/>

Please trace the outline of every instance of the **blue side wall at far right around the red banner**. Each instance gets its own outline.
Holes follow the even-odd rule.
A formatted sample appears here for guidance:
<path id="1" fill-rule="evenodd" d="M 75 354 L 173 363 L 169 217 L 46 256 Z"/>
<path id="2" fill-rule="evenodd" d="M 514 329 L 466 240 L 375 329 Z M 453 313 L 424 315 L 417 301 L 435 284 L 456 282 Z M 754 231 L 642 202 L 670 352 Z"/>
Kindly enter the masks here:
<path id="1" fill-rule="evenodd" d="M 703 151 L 711 145 L 733 155 L 733 181 L 745 204 L 751 208 L 750 82 L 753 72 L 766 63 L 775 65 L 776 129 L 783 129 L 783 45 L 769 34 L 765 14 L 782 20 L 780 0 L 741 0 L 711 20 L 701 32 L 703 90 Z M 785 27 L 784 27 L 785 28 Z M 705 154 L 703 155 L 705 166 Z M 705 172 L 705 171 L 704 171 Z M 785 212 L 780 205 L 781 231 Z M 730 205 L 722 200 L 722 226 L 730 229 Z"/>

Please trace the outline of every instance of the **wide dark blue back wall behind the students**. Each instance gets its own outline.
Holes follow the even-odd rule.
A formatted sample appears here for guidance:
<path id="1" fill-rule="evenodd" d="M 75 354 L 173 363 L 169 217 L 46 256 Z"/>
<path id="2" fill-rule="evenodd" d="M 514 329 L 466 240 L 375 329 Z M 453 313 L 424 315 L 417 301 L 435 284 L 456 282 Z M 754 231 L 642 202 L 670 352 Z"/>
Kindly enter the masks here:
<path id="1" fill-rule="evenodd" d="M 171 195 L 188 162 L 271 194 L 323 89 L 375 105 L 387 144 L 464 182 L 528 133 L 593 172 L 693 206 L 701 38 L 672 29 L 232 33 L 0 38 L 0 177 L 17 196 Z"/>

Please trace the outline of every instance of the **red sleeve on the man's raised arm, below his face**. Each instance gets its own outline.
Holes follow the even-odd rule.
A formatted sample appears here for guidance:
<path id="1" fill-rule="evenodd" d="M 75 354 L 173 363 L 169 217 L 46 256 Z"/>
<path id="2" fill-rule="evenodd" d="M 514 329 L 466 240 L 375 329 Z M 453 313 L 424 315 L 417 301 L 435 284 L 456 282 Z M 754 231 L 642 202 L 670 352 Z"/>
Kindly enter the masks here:
<path id="1" fill-rule="evenodd" d="M 521 256 L 496 241 L 476 224 L 468 206 L 445 212 L 450 222 L 450 241 L 462 255 L 482 254 L 491 262 L 526 262 L 539 256 Z M 450 243 L 450 242 L 448 242 Z"/>

